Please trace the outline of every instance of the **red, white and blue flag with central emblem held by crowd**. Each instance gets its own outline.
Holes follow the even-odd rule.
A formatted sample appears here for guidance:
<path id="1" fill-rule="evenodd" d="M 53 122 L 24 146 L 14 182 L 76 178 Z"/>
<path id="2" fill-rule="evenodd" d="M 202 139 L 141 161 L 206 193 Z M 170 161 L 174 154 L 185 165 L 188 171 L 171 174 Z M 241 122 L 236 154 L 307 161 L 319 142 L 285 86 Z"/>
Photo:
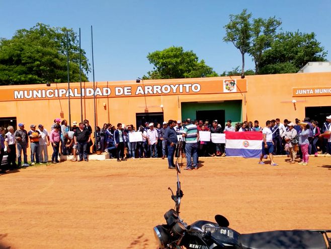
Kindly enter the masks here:
<path id="1" fill-rule="evenodd" d="M 226 156 L 260 157 L 263 134 L 257 131 L 225 132 Z"/>

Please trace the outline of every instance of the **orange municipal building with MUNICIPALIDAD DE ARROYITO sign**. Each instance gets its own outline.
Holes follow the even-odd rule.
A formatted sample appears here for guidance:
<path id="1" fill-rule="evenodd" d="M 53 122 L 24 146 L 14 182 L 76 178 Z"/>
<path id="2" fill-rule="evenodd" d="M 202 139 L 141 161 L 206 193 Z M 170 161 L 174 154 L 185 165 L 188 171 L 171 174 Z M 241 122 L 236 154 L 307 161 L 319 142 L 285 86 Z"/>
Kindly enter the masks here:
<path id="1" fill-rule="evenodd" d="M 138 80 L 137 80 L 138 81 Z M 94 94 L 97 126 L 104 123 L 133 124 L 169 119 L 217 119 L 224 126 L 233 122 L 305 116 L 324 120 L 331 113 L 331 72 L 211 77 L 163 80 L 128 80 L 82 84 L 24 85 L 0 87 L 0 126 L 22 122 L 43 124 L 50 131 L 57 117 L 80 120 L 94 127 Z"/>

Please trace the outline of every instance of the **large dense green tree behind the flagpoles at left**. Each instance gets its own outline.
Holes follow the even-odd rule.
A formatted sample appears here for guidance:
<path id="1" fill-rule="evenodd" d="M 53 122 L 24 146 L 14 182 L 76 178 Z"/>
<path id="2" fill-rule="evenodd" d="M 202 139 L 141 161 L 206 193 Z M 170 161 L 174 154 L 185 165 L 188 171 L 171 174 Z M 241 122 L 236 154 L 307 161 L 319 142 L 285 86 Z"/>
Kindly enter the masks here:
<path id="1" fill-rule="evenodd" d="M 79 81 L 79 44 L 72 29 L 37 23 L 0 40 L 0 85 L 40 84 L 67 81 L 66 31 L 69 44 L 69 78 Z M 90 70 L 81 49 L 82 81 Z"/>

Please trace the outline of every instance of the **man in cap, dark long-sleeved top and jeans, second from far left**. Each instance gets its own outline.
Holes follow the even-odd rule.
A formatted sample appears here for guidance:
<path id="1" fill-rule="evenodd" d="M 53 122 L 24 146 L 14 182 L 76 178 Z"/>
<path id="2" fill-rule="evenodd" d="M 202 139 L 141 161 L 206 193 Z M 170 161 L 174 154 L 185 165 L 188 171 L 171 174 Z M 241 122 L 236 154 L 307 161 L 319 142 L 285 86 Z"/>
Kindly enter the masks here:
<path id="1" fill-rule="evenodd" d="M 19 123 L 19 129 L 17 129 L 14 133 L 16 144 L 17 144 L 17 165 L 18 167 L 28 167 L 30 164 L 28 163 L 28 155 L 27 148 L 29 148 L 29 140 L 28 140 L 28 132 L 24 129 L 24 124 Z M 23 151 L 23 160 L 22 163 L 22 151 Z"/>

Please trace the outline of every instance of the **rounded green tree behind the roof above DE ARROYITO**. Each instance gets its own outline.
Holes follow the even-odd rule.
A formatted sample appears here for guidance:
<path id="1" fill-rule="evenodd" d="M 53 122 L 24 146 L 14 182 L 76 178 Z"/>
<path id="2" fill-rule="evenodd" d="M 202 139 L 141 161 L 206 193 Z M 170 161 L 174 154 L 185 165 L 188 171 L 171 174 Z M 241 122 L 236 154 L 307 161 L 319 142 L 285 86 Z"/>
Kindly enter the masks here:
<path id="1" fill-rule="evenodd" d="M 147 59 L 154 68 L 143 76 L 144 79 L 218 76 L 204 60 L 199 61 L 192 50 L 184 51 L 183 47 L 173 46 L 162 51 L 154 51 L 148 53 Z"/>

